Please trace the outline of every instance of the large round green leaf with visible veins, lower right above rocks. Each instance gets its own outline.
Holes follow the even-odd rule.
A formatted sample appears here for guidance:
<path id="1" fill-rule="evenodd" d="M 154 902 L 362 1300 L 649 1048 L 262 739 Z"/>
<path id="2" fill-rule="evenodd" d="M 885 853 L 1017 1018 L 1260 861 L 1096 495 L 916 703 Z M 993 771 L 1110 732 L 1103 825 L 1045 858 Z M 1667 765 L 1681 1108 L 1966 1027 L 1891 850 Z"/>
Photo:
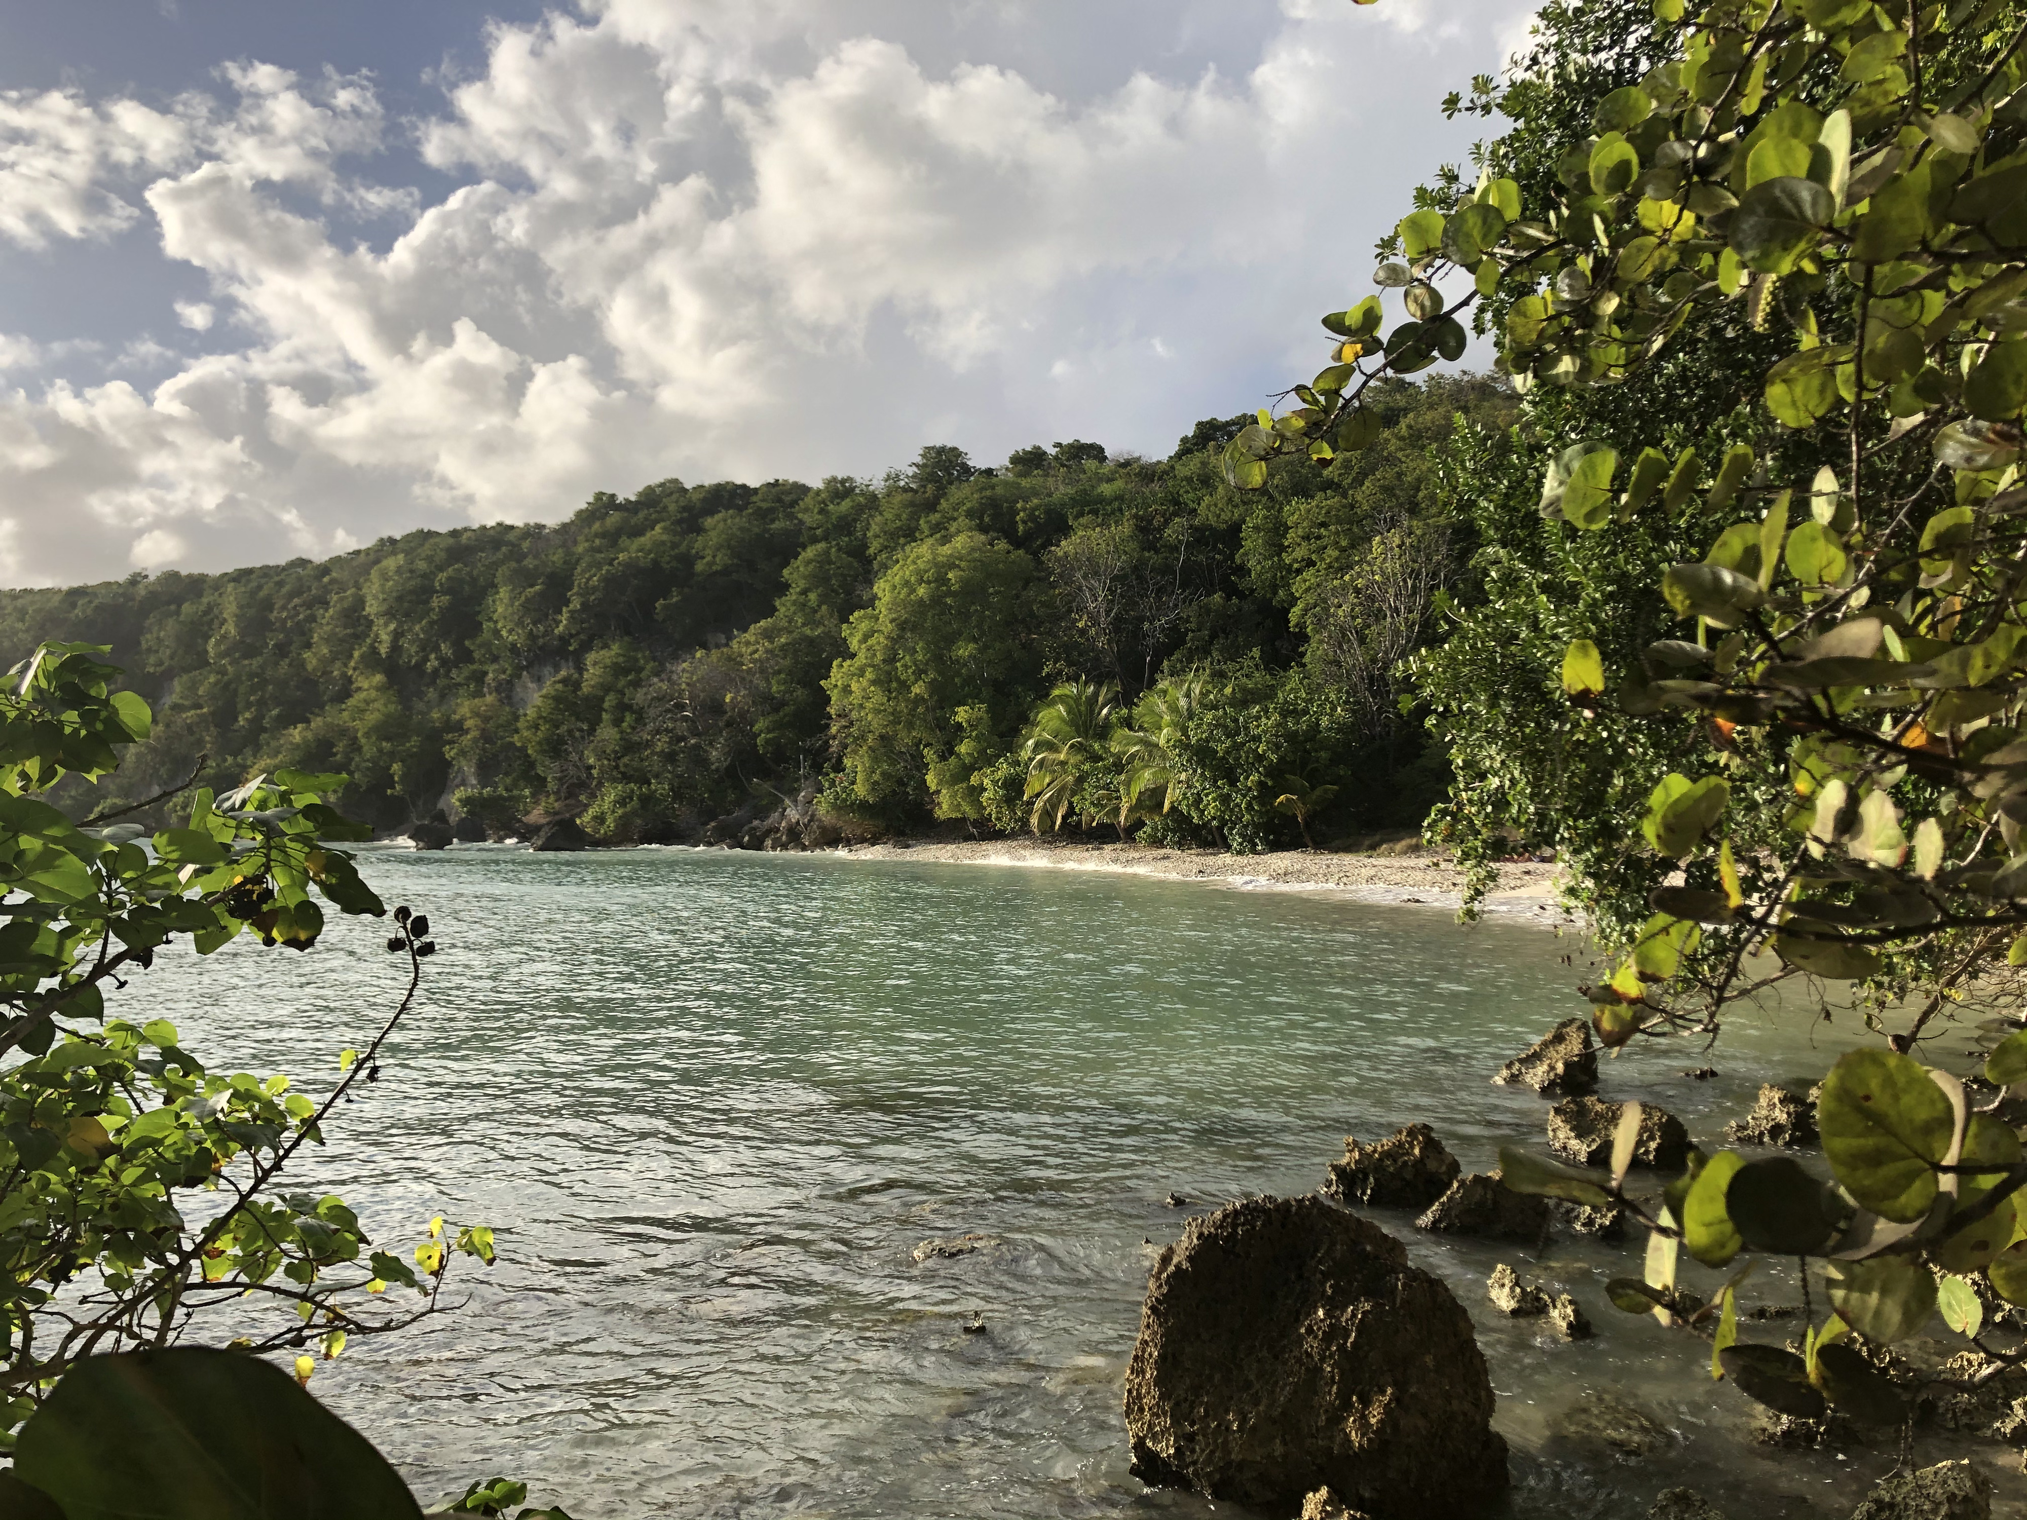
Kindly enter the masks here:
<path id="1" fill-rule="evenodd" d="M 1822 1082 L 1816 1127 L 1830 1169 L 1861 1208 L 1895 1224 L 1928 1214 L 1936 1165 L 1956 1139 L 1956 1111 L 1918 1062 L 1887 1050 L 1849 1052 Z"/>

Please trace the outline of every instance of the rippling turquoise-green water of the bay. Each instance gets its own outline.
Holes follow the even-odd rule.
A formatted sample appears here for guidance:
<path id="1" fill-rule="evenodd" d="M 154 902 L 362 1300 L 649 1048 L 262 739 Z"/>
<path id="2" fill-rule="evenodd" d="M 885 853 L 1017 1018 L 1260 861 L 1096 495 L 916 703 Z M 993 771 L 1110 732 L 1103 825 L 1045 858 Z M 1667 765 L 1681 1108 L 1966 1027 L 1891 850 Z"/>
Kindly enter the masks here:
<path id="1" fill-rule="evenodd" d="M 1547 1105 L 1486 1078 L 1581 1011 L 1573 940 L 1427 908 L 837 855 L 365 865 L 442 953 L 304 1180 L 403 1250 L 436 1212 L 491 1222 L 501 1263 L 460 1267 L 458 1313 L 355 1342 L 314 1388 L 426 1502 L 501 1471 L 580 1520 L 1208 1516 L 1127 1473 L 1153 1250 L 1192 1212 L 1320 1186 L 1346 1133 L 1423 1119 L 1472 1169 L 1538 1139 Z M 150 1011 L 213 1066 L 324 1090 L 397 995 L 383 934 L 172 957 Z M 1709 1137 L 1763 1076 L 1838 1048 L 1747 1021 L 1711 1056 L 1620 1060 L 1605 1092 Z M 1707 1060 L 1721 1078 L 1680 1076 Z M 1695 1378 L 1707 1350 L 1603 1301 L 1620 1255 L 1561 1242 L 1526 1263 L 1386 1224 L 1480 1317 L 1514 1514 L 1634 1516 L 1668 1481 L 1774 1481 L 1739 1443 L 1743 1400 Z M 997 1244 L 912 1257 L 967 1232 Z M 1538 1321 L 1496 1321 L 1502 1259 L 1577 1291 L 1605 1334 L 1551 1346 Z M 1579 1394 L 1640 1409 L 1650 1455 L 1557 1433 Z M 1822 1453 L 1778 1481 L 1849 1504 L 1855 1471 L 1889 1465 Z"/>

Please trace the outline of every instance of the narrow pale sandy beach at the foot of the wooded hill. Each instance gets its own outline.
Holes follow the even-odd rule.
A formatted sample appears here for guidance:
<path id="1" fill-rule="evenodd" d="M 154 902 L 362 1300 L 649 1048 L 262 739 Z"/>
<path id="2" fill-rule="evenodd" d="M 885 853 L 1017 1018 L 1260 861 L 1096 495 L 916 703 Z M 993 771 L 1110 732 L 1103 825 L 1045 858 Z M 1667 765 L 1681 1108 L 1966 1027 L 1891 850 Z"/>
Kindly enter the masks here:
<path id="1" fill-rule="evenodd" d="M 849 859 L 912 859 L 939 865 L 1022 865 L 1056 871 L 1113 871 L 1168 882 L 1206 882 L 1241 892 L 1330 892 L 1384 906 L 1463 906 L 1463 871 L 1439 855 L 1336 855 L 1322 849 L 1277 849 L 1226 855 L 1216 849 L 1166 849 L 1133 843 L 1064 839 L 902 839 L 841 845 Z M 1553 863 L 1516 861 L 1500 867 L 1500 886 L 1482 904 L 1486 914 L 1528 916 L 1559 928 L 1581 920 L 1563 908 Z"/>

